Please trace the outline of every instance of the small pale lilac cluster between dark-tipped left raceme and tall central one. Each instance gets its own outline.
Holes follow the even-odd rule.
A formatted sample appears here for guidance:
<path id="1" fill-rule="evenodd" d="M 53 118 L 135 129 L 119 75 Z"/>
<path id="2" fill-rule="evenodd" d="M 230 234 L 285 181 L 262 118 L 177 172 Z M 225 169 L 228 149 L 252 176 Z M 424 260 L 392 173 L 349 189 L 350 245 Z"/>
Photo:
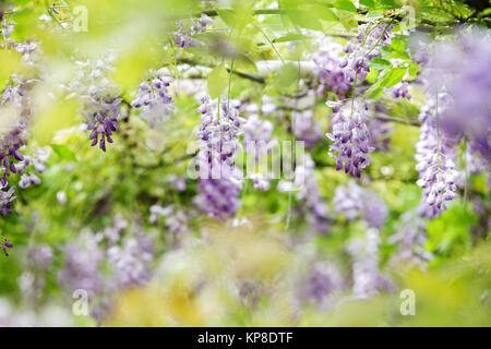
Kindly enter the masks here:
<path id="1" fill-rule="evenodd" d="M 145 107 L 141 117 L 149 121 L 151 128 L 154 128 L 157 121 L 161 121 L 164 117 L 173 110 L 171 105 L 173 99 L 168 95 L 167 91 L 172 81 L 172 77 L 165 76 L 159 72 L 155 73 L 151 81 L 140 84 L 139 94 L 131 103 L 131 106 L 134 108 Z"/>

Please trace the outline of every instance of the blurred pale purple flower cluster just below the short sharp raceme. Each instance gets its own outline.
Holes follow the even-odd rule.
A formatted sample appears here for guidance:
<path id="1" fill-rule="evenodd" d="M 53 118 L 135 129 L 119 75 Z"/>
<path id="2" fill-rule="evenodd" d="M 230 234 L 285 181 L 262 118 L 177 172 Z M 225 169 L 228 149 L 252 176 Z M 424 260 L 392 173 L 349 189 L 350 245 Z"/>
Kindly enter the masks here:
<path id="1" fill-rule="evenodd" d="M 344 213 L 346 219 L 363 219 L 370 227 L 380 229 L 388 215 L 384 201 L 374 192 L 363 189 L 354 180 L 338 185 L 333 198 L 334 212 Z"/>

